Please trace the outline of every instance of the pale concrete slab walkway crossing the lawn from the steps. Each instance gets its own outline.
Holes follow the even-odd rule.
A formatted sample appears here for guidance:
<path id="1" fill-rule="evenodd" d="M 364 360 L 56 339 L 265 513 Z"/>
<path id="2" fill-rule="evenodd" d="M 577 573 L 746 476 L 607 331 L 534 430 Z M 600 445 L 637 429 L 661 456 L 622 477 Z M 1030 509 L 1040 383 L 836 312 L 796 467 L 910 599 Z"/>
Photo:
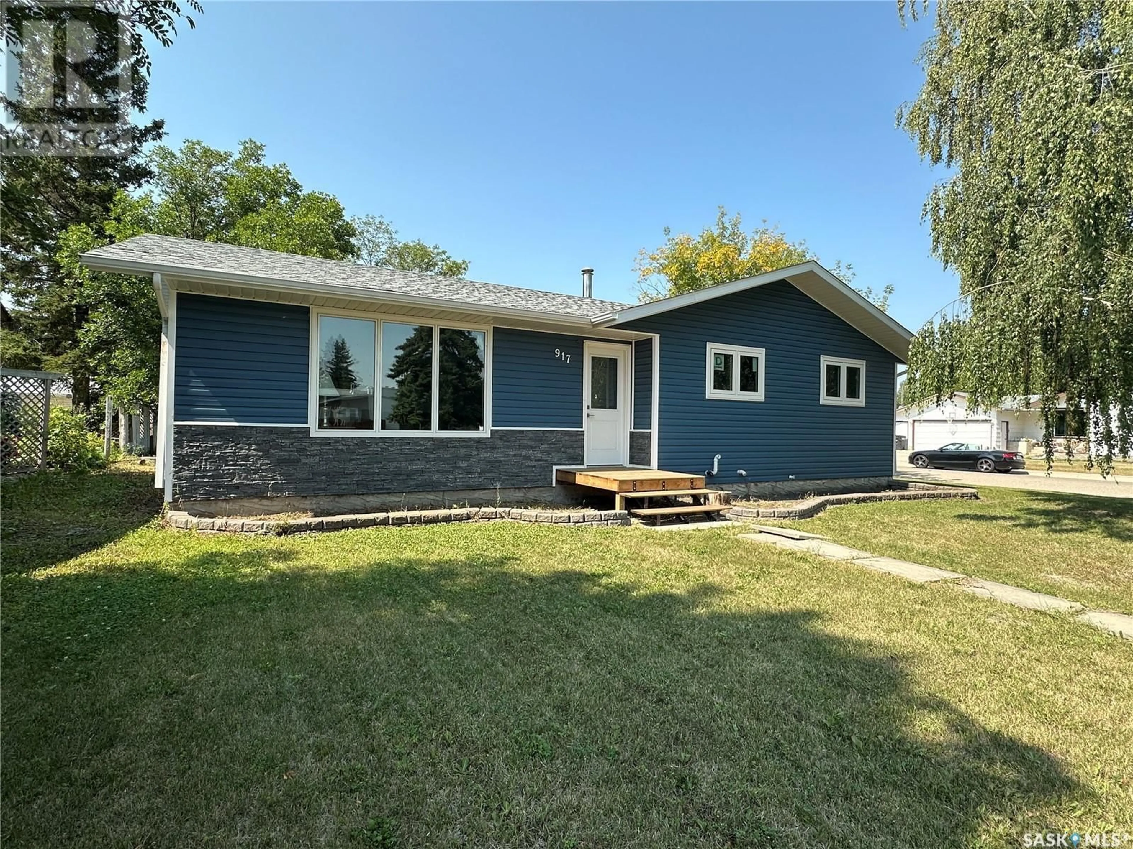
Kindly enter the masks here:
<path id="1" fill-rule="evenodd" d="M 1006 604 L 1014 604 L 1028 610 L 1053 610 L 1070 614 L 1085 625 L 1108 631 L 1125 640 L 1133 640 L 1133 616 L 1110 610 L 1087 610 L 1083 604 L 1070 601 L 1068 599 L 1060 599 L 1057 595 L 1047 595 L 1046 593 L 1032 590 L 1023 590 L 1019 586 L 1000 584 L 996 581 L 969 577 L 959 572 L 938 569 L 934 566 L 925 566 L 919 563 L 897 560 L 892 557 L 876 557 L 868 551 L 859 551 L 854 548 L 840 546 L 824 537 L 804 533 L 791 528 L 755 525 L 755 530 L 756 533 L 741 533 L 740 539 L 764 542 L 777 548 L 790 549 L 791 551 L 806 551 L 807 554 L 827 557 L 832 560 L 847 560 L 859 566 L 864 566 L 867 569 L 897 575 L 906 581 L 915 581 L 920 584 L 946 581 L 954 583 L 964 592 L 1002 601 Z"/>

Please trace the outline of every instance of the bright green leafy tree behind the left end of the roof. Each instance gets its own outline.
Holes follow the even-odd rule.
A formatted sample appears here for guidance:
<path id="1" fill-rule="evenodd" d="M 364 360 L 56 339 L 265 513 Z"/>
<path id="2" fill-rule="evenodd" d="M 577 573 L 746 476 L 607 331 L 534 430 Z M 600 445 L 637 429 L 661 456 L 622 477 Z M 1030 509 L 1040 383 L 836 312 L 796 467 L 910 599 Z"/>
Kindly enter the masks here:
<path id="1" fill-rule="evenodd" d="M 87 311 L 71 355 L 121 404 L 153 404 L 157 394 L 161 317 L 150 281 L 91 272 L 85 250 L 140 233 L 221 241 L 291 254 L 355 256 L 353 228 L 332 196 L 305 191 L 287 165 L 267 164 L 264 146 L 241 143 L 233 155 L 201 142 L 159 146 L 153 180 L 140 195 L 122 191 L 97 226 L 65 231 L 59 263 L 68 291 Z"/>

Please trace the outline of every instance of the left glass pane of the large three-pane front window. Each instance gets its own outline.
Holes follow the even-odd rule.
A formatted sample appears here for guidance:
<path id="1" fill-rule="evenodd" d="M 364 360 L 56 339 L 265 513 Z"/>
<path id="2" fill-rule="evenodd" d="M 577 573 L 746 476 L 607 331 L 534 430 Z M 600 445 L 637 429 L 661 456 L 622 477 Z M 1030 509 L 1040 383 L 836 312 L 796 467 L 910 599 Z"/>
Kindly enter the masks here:
<path id="1" fill-rule="evenodd" d="M 374 323 L 318 318 L 318 427 L 374 428 Z"/>

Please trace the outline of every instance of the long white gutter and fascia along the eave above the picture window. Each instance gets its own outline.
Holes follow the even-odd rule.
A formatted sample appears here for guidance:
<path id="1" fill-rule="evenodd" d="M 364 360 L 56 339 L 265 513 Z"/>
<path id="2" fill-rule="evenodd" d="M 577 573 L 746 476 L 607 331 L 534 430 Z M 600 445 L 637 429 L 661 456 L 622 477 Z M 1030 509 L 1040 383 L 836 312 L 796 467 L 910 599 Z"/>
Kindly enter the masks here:
<path id="1" fill-rule="evenodd" d="M 274 289 L 280 292 L 296 292 L 309 295 L 338 295 L 358 301 L 381 301 L 385 303 L 400 303 L 407 307 L 431 307 L 434 309 L 448 309 L 453 311 L 476 312 L 485 316 L 509 316 L 513 318 L 528 318 L 533 320 L 548 321 L 553 324 L 571 325 L 578 327 L 593 327 L 593 323 L 585 316 L 566 316 L 561 312 L 544 312 L 534 309 L 516 309 L 513 307 L 493 307 L 484 303 L 469 303 L 467 301 L 450 301 L 444 298 L 428 298 L 426 295 L 404 294 L 401 292 L 389 292 L 380 289 L 363 289 L 360 286 L 339 286 L 327 283 L 301 283 L 291 280 L 279 280 L 276 277 L 261 277 L 255 274 L 239 274 L 235 272 L 218 272 L 205 268 L 191 268 L 187 266 L 164 265 L 162 263 L 137 263 L 130 259 L 111 259 L 108 257 L 80 254 L 79 259 L 83 265 L 96 272 L 109 272 L 111 274 L 160 274 L 171 278 L 172 289 L 176 289 L 176 277 L 187 280 L 199 280 L 207 283 L 221 283 L 231 285 L 248 285 L 259 289 Z"/>

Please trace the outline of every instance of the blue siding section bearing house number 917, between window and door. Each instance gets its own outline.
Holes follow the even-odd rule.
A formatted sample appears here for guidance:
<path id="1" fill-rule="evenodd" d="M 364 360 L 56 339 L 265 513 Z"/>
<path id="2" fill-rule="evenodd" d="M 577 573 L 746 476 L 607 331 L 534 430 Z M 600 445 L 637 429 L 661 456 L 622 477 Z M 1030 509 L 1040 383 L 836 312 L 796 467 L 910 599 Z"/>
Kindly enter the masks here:
<path id="1" fill-rule="evenodd" d="M 582 427 L 581 336 L 497 327 L 492 333 L 492 424 Z M 555 349 L 570 361 L 555 357 Z"/>

